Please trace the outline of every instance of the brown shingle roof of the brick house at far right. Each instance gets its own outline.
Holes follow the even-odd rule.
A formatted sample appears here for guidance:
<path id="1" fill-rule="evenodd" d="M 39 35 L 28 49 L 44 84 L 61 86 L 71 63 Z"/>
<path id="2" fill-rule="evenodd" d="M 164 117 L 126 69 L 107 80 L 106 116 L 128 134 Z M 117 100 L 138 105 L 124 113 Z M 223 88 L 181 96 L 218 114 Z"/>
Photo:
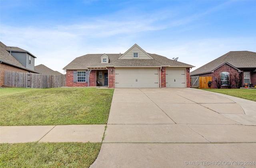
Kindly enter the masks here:
<path id="1" fill-rule="evenodd" d="M 201 66 L 190 72 L 190 75 L 210 73 L 221 64 L 228 62 L 236 68 L 256 68 L 256 52 L 250 51 L 230 51 L 219 58 Z"/>

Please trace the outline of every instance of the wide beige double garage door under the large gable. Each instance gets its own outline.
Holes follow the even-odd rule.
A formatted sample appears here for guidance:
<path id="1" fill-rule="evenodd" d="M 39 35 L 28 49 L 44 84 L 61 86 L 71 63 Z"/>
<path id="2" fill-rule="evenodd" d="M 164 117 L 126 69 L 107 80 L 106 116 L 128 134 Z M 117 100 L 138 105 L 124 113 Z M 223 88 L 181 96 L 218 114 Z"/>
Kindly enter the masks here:
<path id="1" fill-rule="evenodd" d="M 116 88 L 159 88 L 158 69 L 116 69 Z"/>

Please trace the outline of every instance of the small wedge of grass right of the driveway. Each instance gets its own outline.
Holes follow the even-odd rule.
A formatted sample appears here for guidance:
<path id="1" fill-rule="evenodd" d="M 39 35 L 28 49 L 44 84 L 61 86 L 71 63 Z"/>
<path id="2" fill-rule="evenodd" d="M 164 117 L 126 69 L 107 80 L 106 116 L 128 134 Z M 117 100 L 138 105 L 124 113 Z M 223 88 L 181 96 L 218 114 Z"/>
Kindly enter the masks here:
<path id="1" fill-rule="evenodd" d="M 202 90 L 226 94 L 229 96 L 234 96 L 234 97 L 252 100 L 256 102 L 256 89 L 202 89 Z"/>

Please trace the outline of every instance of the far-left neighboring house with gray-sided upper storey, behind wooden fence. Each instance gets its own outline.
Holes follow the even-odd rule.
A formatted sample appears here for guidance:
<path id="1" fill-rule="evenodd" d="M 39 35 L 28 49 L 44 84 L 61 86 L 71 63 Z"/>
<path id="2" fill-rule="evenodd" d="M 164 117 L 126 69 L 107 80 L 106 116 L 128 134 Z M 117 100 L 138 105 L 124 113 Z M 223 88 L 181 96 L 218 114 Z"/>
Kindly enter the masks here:
<path id="1" fill-rule="evenodd" d="M 4 85 L 4 72 L 29 72 L 34 70 L 36 56 L 18 47 L 9 47 L 0 42 L 0 86 Z"/>

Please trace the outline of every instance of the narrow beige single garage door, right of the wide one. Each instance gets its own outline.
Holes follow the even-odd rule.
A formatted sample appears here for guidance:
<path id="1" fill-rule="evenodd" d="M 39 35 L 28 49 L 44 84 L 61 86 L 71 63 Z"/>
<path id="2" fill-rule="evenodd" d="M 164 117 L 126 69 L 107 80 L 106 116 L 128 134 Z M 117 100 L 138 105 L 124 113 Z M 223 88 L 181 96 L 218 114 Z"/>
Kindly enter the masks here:
<path id="1" fill-rule="evenodd" d="M 166 70 L 167 88 L 186 88 L 186 70 Z"/>

